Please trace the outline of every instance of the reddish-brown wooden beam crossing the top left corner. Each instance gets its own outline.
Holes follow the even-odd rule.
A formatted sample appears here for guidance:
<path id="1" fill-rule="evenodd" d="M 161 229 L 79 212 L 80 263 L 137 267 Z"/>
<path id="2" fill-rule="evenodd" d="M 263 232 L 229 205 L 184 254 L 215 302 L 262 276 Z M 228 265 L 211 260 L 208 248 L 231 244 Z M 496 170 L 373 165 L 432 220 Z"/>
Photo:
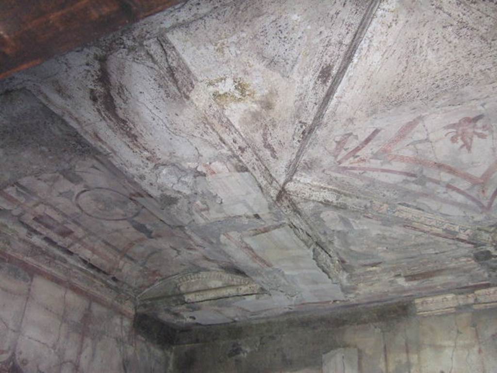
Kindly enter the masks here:
<path id="1" fill-rule="evenodd" d="M 184 0 L 0 0 L 0 79 Z"/>

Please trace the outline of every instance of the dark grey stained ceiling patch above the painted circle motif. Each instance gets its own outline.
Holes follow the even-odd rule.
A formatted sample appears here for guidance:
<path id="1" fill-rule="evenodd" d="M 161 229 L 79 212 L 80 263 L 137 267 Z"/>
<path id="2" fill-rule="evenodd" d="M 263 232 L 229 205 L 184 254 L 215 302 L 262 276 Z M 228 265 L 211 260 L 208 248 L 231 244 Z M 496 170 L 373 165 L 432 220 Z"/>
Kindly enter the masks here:
<path id="1" fill-rule="evenodd" d="M 61 170 L 71 182 L 76 160 L 98 152 L 27 90 L 0 95 L 0 189 L 26 176 Z"/>

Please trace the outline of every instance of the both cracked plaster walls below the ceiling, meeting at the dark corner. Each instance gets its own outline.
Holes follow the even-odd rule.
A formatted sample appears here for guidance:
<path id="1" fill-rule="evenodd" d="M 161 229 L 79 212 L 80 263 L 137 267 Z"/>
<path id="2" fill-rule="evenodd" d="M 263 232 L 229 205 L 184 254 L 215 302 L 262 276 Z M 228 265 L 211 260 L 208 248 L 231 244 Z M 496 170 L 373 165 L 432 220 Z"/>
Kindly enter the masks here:
<path id="1" fill-rule="evenodd" d="M 0 372 L 490 373 L 497 289 L 172 331 L 0 261 Z"/>

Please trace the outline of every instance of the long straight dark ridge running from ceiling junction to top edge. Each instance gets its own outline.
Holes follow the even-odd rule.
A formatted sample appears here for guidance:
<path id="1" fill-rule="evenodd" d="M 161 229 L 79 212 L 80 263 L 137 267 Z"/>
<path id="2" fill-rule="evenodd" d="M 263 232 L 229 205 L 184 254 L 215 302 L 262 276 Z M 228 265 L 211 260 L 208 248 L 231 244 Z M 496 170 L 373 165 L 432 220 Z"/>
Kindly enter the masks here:
<path id="1" fill-rule="evenodd" d="M 350 63 L 352 62 L 352 59 L 354 58 L 354 55 L 357 52 L 357 49 L 359 45 L 361 44 L 364 35 L 366 34 L 367 29 L 369 28 L 369 25 L 371 24 L 371 21 L 374 17 L 374 14 L 376 13 L 376 9 L 378 8 L 378 5 L 380 4 L 381 0 L 372 0 L 367 7 L 366 11 L 364 12 L 364 15 L 362 16 L 362 19 L 359 23 L 359 26 L 357 27 L 354 36 L 352 38 L 352 41 L 350 45 L 347 48 L 347 51 L 345 52 L 345 55 L 343 56 L 342 61 L 340 62 L 340 67 L 338 68 L 338 71 L 336 74 L 333 76 L 333 79 L 331 80 L 330 85 L 328 86 L 328 89 L 326 91 L 326 94 L 321 101 L 318 110 L 316 111 L 316 114 L 314 115 L 314 118 L 311 122 L 311 125 L 309 126 L 309 131 L 307 131 L 306 136 L 302 140 L 302 143 L 300 144 L 299 149 L 295 153 L 295 157 L 293 158 L 293 161 L 290 165 L 290 168 L 288 170 L 288 174 L 281 186 L 280 191 L 278 192 L 278 196 L 276 197 L 276 200 L 280 200 L 282 197 L 282 194 L 285 193 L 285 187 L 286 185 L 293 179 L 293 176 L 297 172 L 297 168 L 300 164 L 300 161 L 302 160 L 302 157 L 304 156 L 304 153 L 306 152 L 309 143 L 311 142 L 312 138 L 314 137 L 314 134 L 318 130 L 318 128 L 321 126 L 323 122 L 323 118 L 325 116 L 326 109 L 328 108 L 331 99 L 334 97 L 338 87 L 340 86 L 343 77 L 345 76 L 345 73 L 347 72 Z"/>

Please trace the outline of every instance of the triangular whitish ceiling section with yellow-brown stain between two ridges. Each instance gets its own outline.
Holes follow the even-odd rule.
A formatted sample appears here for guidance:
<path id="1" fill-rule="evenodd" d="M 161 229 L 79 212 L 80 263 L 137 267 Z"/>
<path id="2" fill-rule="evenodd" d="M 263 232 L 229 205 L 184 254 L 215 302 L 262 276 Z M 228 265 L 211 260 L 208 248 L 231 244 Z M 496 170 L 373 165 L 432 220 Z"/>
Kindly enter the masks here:
<path id="1" fill-rule="evenodd" d="M 233 1 L 202 20 L 171 30 L 167 37 L 282 182 L 328 84 L 349 61 L 347 48 L 367 4 L 321 2 L 309 7 L 299 1 Z M 237 93 L 233 80 L 240 77 L 253 97 Z M 217 92 L 216 84 L 222 87 Z M 271 101 L 262 102 L 268 95 L 273 96 Z M 255 119 L 257 110 L 261 115 Z M 264 132 L 263 126 L 268 127 Z"/>

